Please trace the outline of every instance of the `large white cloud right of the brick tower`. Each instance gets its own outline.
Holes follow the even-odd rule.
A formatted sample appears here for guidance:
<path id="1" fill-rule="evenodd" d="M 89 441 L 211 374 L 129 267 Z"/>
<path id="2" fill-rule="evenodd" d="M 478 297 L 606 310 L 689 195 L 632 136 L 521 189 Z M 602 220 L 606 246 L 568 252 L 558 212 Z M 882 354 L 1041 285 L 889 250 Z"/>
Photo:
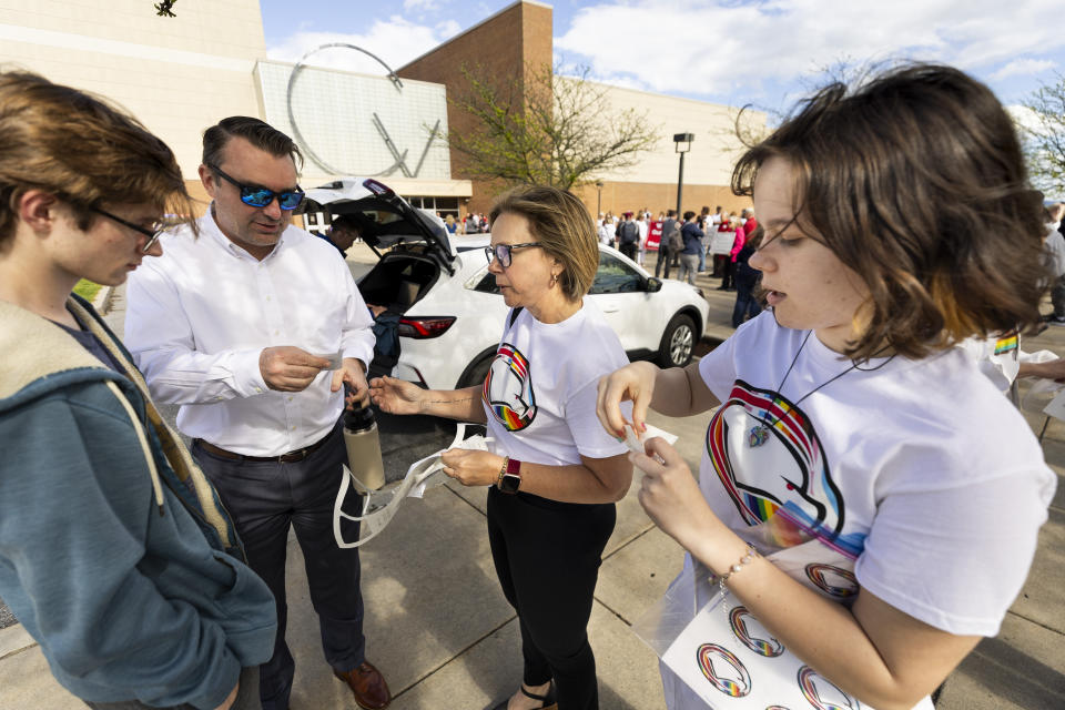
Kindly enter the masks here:
<path id="1" fill-rule="evenodd" d="M 1065 48 L 1061 0 L 601 0 L 575 10 L 560 31 L 555 49 L 581 55 L 596 77 L 718 97 L 757 95 L 841 58 L 986 73 L 1021 54 L 1051 61 Z"/>

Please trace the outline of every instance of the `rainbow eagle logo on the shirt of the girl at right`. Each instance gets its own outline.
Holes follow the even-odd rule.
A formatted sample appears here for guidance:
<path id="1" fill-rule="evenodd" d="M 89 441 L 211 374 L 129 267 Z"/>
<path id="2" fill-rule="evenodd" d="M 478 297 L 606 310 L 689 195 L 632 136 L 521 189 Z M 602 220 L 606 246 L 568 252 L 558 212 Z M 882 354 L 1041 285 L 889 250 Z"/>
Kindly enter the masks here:
<path id="1" fill-rule="evenodd" d="M 710 420 L 707 453 L 743 520 L 764 524 L 775 546 L 818 539 L 851 559 L 864 548 L 864 536 L 842 535 L 843 496 L 813 425 L 779 393 L 737 379 Z"/>

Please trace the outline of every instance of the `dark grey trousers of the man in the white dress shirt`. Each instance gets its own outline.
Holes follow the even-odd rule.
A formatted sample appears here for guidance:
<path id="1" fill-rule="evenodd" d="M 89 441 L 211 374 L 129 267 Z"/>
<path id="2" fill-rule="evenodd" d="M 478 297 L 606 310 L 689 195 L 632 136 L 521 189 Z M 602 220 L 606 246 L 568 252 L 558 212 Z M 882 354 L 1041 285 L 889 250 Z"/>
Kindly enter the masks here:
<path id="1" fill-rule="evenodd" d="M 260 694 L 263 710 L 283 710 L 288 707 L 296 670 L 285 643 L 290 526 L 303 550 L 326 662 L 343 672 L 365 660 L 358 548 L 341 549 L 333 537 L 333 503 L 341 485 L 341 466 L 347 459 L 341 423 L 316 452 L 294 464 L 233 462 L 211 454 L 199 442 L 192 453 L 233 517 L 248 566 L 277 602 L 274 656 L 260 666 Z M 344 523 L 344 539 L 358 539 L 358 523 Z"/>

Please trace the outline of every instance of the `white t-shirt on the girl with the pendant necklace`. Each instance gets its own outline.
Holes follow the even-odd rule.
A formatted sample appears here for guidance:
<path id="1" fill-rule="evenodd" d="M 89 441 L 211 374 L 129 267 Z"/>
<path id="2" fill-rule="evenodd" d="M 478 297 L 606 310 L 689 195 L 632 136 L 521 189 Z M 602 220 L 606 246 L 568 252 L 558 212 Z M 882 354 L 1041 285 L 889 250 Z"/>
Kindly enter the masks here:
<path id="1" fill-rule="evenodd" d="M 1035 436 L 962 349 L 875 358 L 803 398 L 851 366 L 812 334 L 799 353 L 808 334 L 765 312 L 699 363 L 722 402 L 699 474 L 710 507 L 830 599 L 861 585 L 939 629 L 996 635 L 1056 483 Z M 662 674 L 671 708 L 704 707 Z"/>

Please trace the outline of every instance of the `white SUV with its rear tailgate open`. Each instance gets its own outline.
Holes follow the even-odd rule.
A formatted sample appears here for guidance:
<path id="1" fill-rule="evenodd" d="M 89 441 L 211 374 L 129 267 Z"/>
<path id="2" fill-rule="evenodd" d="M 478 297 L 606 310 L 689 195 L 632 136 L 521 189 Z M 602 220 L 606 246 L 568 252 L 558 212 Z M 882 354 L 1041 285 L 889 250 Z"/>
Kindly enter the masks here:
<path id="1" fill-rule="evenodd" d="M 375 180 L 346 179 L 307 192 L 307 211 L 353 217 L 381 256 L 358 282 L 367 304 L 397 321 L 399 354 L 375 354 L 373 374 L 389 373 L 430 389 L 484 382 L 509 308 L 488 273 L 489 235 L 448 237 L 443 222 L 415 210 Z M 385 247 L 387 251 L 383 251 Z M 709 306 L 702 292 L 648 275 L 609 246 L 588 295 L 630 359 L 683 366 L 702 336 Z M 378 337 L 378 351 L 387 346 Z"/>

